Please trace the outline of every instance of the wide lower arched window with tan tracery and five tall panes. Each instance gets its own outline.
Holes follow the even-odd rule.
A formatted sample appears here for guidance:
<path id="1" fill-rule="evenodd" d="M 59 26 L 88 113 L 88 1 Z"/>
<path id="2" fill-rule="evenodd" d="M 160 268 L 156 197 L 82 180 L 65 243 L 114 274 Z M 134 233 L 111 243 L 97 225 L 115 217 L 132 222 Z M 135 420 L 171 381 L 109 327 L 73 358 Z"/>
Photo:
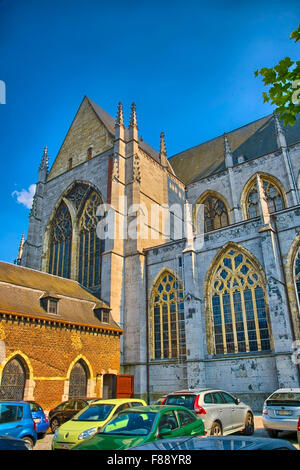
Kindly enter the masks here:
<path id="1" fill-rule="evenodd" d="M 214 354 L 268 351 L 266 292 L 261 274 L 241 251 L 229 249 L 209 285 Z"/>

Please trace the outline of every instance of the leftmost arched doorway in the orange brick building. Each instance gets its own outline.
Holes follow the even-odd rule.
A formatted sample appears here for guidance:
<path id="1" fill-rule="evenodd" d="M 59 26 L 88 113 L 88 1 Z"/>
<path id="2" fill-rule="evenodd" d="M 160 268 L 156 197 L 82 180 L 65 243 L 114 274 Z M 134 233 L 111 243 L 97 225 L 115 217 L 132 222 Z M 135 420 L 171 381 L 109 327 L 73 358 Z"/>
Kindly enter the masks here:
<path id="1" fill-rule="evenodd" d="M 0 398 L 2 400 L 23 400 L 26 370 L 18 358 L 11 359 L 3 369 Z"/>

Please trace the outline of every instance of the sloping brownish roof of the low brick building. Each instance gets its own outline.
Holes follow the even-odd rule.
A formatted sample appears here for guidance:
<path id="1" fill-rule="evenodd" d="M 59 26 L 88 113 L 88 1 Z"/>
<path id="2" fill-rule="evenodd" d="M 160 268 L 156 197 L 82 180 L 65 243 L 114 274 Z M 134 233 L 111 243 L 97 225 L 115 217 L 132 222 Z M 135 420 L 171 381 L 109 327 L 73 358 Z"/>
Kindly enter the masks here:
<path id="1" fill-rule="evenodd" d="M 48 314 L 41 299 L 54 296 L 59 299 L 58 314 Z M 110 320 L 102 323 L 94 308 L 109 306 L 85 290 L 78 282 L 34 269 L 0 261 L 0 310 L 43 318 L 57 318 L 82 325 L 118 329 Z"/>

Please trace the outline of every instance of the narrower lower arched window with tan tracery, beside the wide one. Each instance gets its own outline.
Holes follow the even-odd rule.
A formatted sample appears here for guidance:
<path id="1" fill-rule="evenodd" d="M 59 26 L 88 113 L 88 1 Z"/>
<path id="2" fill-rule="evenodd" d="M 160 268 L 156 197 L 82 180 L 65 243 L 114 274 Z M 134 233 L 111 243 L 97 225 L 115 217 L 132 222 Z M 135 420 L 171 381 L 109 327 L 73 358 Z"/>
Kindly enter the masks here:
<path id="1" fill-rule="evenodd" d="M 152 291 L 150 311 L 152 359 L 185 359 L 185 325 L 182 283 L 163 273 Z"/>

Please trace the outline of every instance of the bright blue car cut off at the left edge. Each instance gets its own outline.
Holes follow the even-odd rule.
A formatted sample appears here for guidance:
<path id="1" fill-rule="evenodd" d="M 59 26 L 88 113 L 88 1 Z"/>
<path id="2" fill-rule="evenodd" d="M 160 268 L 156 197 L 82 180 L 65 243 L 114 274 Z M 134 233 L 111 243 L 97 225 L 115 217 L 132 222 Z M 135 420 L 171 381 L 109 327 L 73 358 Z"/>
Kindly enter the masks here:
<path id="1" fill-rule="evenodd" d="M 32 449 L 37 440 L 36 423 L 29 403 L 25 401 L 0 401 L 0 436 L 23 439 Z"/>

